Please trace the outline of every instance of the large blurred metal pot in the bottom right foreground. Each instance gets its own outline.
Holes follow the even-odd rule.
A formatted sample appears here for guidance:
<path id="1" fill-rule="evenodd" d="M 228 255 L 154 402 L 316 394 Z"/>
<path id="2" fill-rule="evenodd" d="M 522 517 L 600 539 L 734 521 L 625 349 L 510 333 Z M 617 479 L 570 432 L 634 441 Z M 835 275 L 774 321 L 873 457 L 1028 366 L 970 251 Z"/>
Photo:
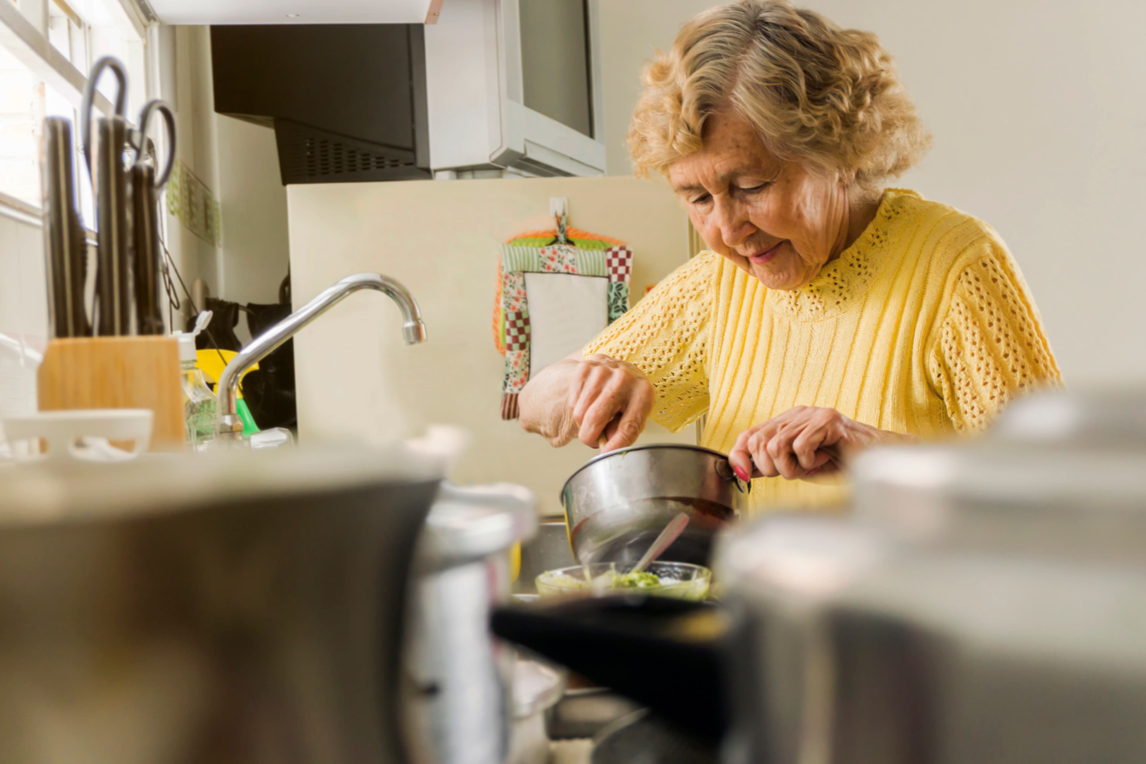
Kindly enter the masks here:
<path id="1" fill-rule="evenodd" d="M 723 761 L 1146 761 L 1146 544 L 1131 565 L 984 538 L 798 515 L 730 537 Z"/>

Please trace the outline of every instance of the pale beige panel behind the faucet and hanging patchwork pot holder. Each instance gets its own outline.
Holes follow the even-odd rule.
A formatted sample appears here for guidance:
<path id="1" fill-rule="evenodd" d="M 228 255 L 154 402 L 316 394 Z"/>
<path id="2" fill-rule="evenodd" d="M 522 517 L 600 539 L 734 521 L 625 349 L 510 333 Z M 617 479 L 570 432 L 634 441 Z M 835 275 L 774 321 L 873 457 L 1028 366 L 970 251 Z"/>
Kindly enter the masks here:
<path id="1" fill-rule="evenodd" d="M 379 271 L 418 300 L 429 340 L 406 346 L 398 309 L 354 294 L 295 341 L 300 442 L 384 441 L 429 424 L 462 425 L 474 443 L 453 475 L 508 480 L 559 512 L 565 479 L 596 451 L 550 448 L 501 419 L 504 359 L 492 317 L 501 242 L 552 227 L 549 197 L 571 225 L 627 242 L 633 292 L 643 294 L 689 257 L 688 223 L 662 186 L 633 178 L 402 181 L 291 186 L 291 279 L 300 306 L 339 278 Z M 652 441 L 696 442 L 650 424 Z"/>

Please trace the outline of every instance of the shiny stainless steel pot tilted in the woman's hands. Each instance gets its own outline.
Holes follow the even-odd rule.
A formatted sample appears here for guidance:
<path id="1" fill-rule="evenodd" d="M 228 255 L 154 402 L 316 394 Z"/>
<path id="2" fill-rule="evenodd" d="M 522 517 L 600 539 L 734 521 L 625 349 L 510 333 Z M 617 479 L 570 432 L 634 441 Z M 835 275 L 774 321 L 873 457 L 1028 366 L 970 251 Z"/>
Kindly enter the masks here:
<path id="1" fill-rule="evenodd" d="M 739 514 L 751 489 L 720 451 L 633 446 L 574 472 L 562 489 L 562 505 L 579 562 L 634 562 L 684 512 L 689 526 L 661 559 L 704 565 L 713 534 Z"/>

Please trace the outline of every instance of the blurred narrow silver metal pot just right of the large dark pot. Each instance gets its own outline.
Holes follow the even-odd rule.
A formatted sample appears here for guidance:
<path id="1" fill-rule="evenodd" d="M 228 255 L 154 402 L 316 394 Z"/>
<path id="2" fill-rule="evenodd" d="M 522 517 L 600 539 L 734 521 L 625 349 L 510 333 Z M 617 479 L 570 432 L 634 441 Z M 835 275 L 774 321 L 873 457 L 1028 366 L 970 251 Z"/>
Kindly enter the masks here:
<path id="1" fill-rule="evenodd" d="M 536 523 L 526 488 L 442 485 L 418 541 L 408 615 L 402 707 L 415 762 L 509 755 L 515 651 L 489 632 L 489 613 L 510 598 L 510 548 Z"/>

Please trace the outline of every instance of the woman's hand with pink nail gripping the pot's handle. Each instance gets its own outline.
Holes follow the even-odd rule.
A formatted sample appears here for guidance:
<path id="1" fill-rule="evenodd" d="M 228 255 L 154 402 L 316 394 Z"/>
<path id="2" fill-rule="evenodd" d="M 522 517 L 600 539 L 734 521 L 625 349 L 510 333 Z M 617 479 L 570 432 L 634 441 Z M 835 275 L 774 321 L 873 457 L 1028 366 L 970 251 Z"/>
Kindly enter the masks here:
<path id="1" fill-rule="evenodd" d="M 798 405 L 740 433 L 728 460 L 741 480 L 776 475 L 796 480 L 835 472 L 871 446 L 916 440 L 849 419 L 835 409 Z"/>

